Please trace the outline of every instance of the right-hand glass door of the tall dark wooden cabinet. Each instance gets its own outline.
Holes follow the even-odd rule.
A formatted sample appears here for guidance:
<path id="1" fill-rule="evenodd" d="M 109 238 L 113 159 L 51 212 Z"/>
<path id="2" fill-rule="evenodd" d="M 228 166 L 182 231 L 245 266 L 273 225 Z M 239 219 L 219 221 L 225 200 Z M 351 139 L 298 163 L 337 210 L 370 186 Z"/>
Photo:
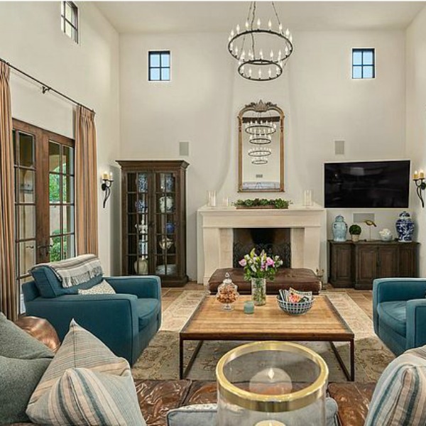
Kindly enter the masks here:
<path id="1" fill-rule="evenodd" d="M 155 275 L 177 275 L 178 203 L 175 173 L 155 174 Z"/>

